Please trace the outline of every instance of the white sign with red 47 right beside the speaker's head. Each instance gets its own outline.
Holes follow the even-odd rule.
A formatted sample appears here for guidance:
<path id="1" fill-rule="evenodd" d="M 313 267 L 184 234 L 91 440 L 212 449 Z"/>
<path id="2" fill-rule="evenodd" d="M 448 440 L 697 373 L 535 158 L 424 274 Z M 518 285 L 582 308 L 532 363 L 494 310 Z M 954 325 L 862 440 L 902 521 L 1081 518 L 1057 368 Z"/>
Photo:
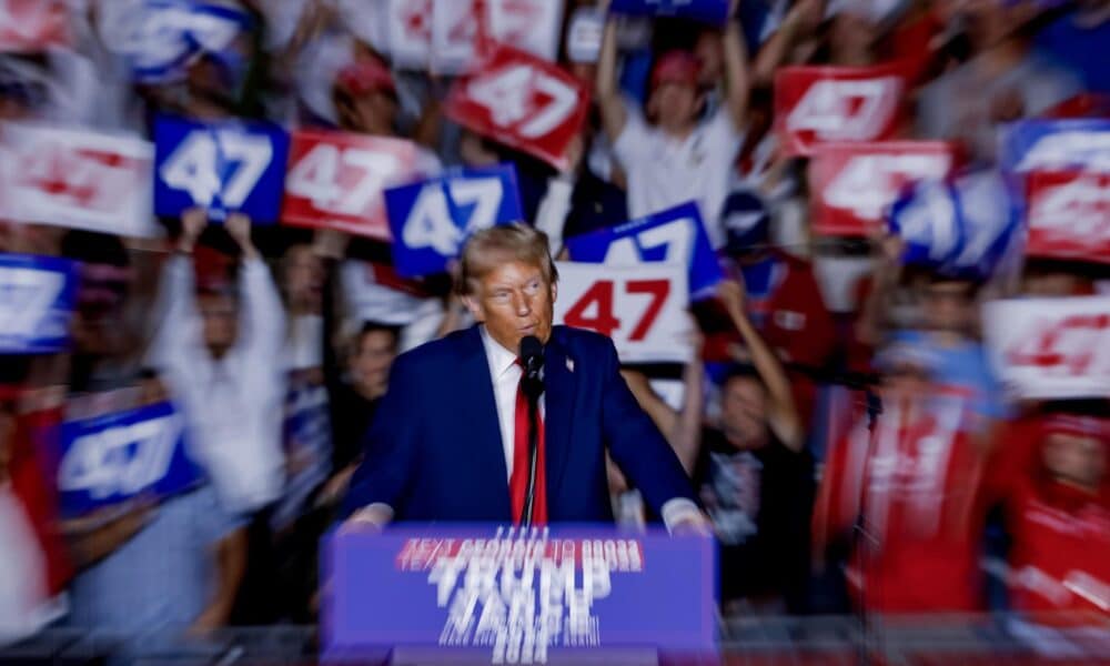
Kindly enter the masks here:
<path id="1" fill-rule="evenodd" d="M 686 363 L 694 353 L 685 269 L 559 262 L 555 323 L 612 339 L 623 363 Z"/>

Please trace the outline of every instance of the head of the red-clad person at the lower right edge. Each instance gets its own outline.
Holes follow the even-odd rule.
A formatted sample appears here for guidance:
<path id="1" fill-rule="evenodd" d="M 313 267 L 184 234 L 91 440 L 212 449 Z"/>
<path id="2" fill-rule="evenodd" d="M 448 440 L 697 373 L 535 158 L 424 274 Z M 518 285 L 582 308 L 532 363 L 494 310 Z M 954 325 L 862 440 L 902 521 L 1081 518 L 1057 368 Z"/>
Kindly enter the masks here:
<path id="1" fill-rule="evenodd" d="M 1041 440 L 1045 471 L 1053 481 L 1097 492 L 1106 478 L 1108 434 L 1101 418 L 1050 416 Z"/>

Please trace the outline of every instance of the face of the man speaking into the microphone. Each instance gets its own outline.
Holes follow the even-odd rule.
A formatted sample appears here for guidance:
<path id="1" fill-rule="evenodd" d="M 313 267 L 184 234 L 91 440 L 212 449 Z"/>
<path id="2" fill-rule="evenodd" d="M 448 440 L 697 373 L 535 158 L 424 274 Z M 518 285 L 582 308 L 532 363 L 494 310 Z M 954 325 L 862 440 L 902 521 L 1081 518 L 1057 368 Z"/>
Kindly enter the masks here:
<path id="1" fill-rule="evenodd" d="M 508 261 L 486 273 L 475 286 L 463 300 L 503 347 L 516 352 L 523 337 L 535 335 L 544 343 L 551 337 L 558 290 L 539 266 Z"/>

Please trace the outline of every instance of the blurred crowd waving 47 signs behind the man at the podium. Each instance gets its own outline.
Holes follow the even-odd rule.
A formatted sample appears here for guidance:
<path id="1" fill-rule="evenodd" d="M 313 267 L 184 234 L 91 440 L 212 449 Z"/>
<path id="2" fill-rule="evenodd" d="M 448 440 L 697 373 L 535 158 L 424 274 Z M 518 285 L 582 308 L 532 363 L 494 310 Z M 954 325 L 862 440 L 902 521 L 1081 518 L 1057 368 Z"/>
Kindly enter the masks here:
<path id="1" fill-rule="evenodd" d="M 0 660 L 309 659 L 390 366 L 513 222 L 730 650 L 1110 654 L 1108 49 L 1107 0 L 0 1 Z"/>

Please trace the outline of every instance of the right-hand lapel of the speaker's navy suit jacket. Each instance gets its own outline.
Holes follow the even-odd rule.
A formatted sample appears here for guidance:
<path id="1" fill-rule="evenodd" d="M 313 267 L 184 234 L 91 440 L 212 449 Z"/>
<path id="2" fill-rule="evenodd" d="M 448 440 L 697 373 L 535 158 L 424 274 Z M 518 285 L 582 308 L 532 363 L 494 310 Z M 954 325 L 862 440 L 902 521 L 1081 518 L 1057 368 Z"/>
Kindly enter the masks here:
<path id="1" fill-rule="evenodd" d="M 574 361 L 554 337 L 544 351 L 544 435 L 547 466 L 547 506 L 553 505 L 566 471 L 574 428 L 576 377 Z"/>

